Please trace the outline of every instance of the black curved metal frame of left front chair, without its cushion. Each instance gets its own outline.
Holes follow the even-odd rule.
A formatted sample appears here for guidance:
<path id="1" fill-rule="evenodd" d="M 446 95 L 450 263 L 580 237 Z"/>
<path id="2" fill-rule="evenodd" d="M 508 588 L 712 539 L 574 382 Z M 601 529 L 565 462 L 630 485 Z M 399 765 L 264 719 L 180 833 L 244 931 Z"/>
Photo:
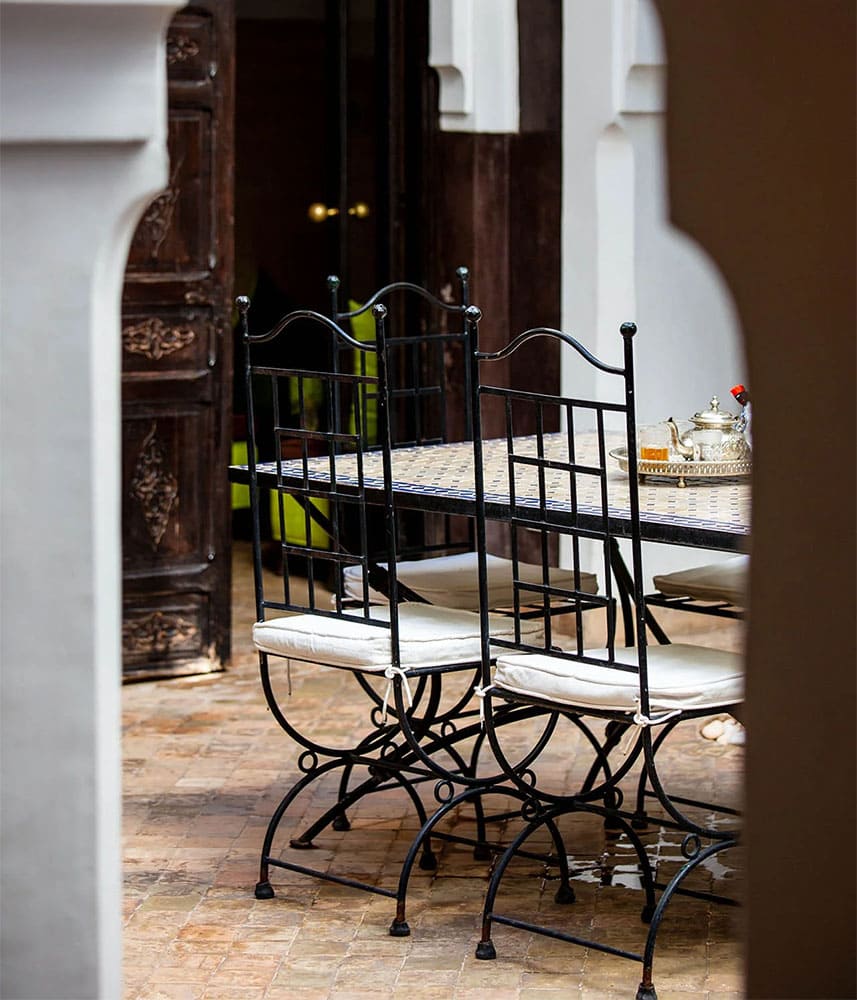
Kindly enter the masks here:
<path id="1" fill-rule="evenodd" d="M 385 349 L 385 306 L 377 301 L 371 306 L 376 341 L 365 343 L 351 337 L 329 317 L 309 310 L 290 313 L 271 330 L 251 334 L 248 320 L 250 302 L 242 297 L 237 304 L 245 345 L 245 379 L 250 415 L 248 471 L 254 526 L 253 563 L 257 620 L 264 620 L 271 612 L 277 614 L 298 612 L 318 615 L 321 618 L 336 617 L 386 629 L 390 634 L 393 651 L 390 681 L 395 687 L 394 704 L 388 709 L 388 698 L 381 696 L 371 679 L 372 674 L 378 676 L 377 672 L 352 670 L 351 673 L 359 688 L 367 697 L 367 729 L 354 745 L 331 746 L 308 735 L 292 721 L 278 694 L 278 686 L 272 678 L 273 664 L 281 663 L 282 659 L 270 653 L 259 653 L 263 693 L 274 720 L 300 750 L 297 762 L 300 777 L 282 797 L 268 823 L 262 845 L 256 896 L 266 899 L 274 895 L 269 877 L 270 869 L 282 868 L 394 897 L 396 896 L 394 891 L 375 884 L 284 859 L 279 851 L 275 851 L 278 832 L 298 796 L 314 782 L 327 776 L 337 775 L 339 792 L 336 802 L 311 825 L 291 838 L 289 845 L 293 850 L 311 848 L 314 846 L 313 838 L 328 827 L 338 830 L 348 829 L 350 825 L 348 809 L 365 796 L 378 792 L 393 790 L 403 792 L 410 800 L 420 824 L 425 826 L 428 814 L 418 794 L 420 786 L 434 782 L 437 787 L 439 776 L 452 781 L 468 780 L 475 774 L 479 747 L 483 741 L 479 723 L 476 721 L 478 710 L 469 706 L 473 702 L 474 681 L 481 670 L 481 665 L 478 661 L 466 661 L 420 669 L 401 669 L 398 648 L 399 602 L 403 599 L 416 599 L 416 595 L 400 585 L 396 574 L 399 553 L 397 511 L 390 486 L 392 442 L 387 408 L 390 394 L 387 390 L 389 355 Z M 377 370 L 371 372 L 368 366 L 361 365 L 361 370 L 358 372 L 346 372 L 341 367 L 331 365 L 330 371 L 309 371 L 287 364 L 270 363 L 270 351 L 268 351 L 268 363 L 254 362 L 256 345 L 275 342 L 281 333 L 298 322 L 314 325 L 334 343 L 341 343 L 349 350 L 360 351 L 361 354 L 374 353 Z M 335 357 L 337 351 L 334 350 L 332 354 Z M 260 383 L 269 396 L 273 414 L 273 424 L 268 428 L 257 426 L 254 400 Z M 319 385 L 323 387 L 321 413 L 316 407 L 308 405 L 312 385 L 315 385 L 316 389 Z M 340 405 L 346 399 L 348 407 Z M 335 460 L 342 452 L 355 453 L 358 458 L 358 468 L 361 467 L 360 455 L 367 450 L 369 437 L 366 410 L 370 400 L 375 400 L 377 405 L 378 446 L 382 450 L 385 466 L 386 489 L 382 510 L 387 541 L 383 553 L 386 569 L 377 565 L 375 556 L 369 553 L 369 508 L 377 504 L 377 497 L 370 500 L 367 496 L 363 488 L 362 473 L 358 475 L 357 487 L 340 489 L 336 481 Z M 257 476 L 255 459 L 258 437 L 262 433 L 273 436 L 272 450 L 279 456 L 274 462 L 276 468 L 274 480 L 266 478 L 264 483 L 261 477 Z M 302 462 L 304 475 L 300 483 L 296 483 L 294 478 L 288 483 L 284 480 L 281 469 L 284 448 L 291 449 L 289 457 L 292 459 L 297 452 L 297 457 Z M 311 482 L 306 474 L 308 461 L 311 457 L 318 457 L 319 454 L 327 456 L 330 468 L 329 482 L 324 485 Z M 281 545 L 284 554 L 282 594 L 273 597 L 266 591 L 267 581 L 261 559 L 260 491 L 262 489 L 274 489 L 277 493 Z M 298 510 L 302 513 L 303 539 L 294 540 L 288 536 L 285 517 L 287 503 L 297 504 Z M 327 505 L 328 509 L 319 510 L 319 505 Z M 352 534 L 356 534 L 358 539 L 356 547 L 347 544 L 342 530 L 345 510 L 351 511 L 358 522 L 356 532 L 352 526 Z M 315 538 L 316 527 L 322 529 L 323 540 Z M 290 557 L 295 556 L 303 560 L 300 575 L 301 587 L 306 587 L 305 598 L 301 596 L 302 591 L 299 592 L 291 579 Z M 325 563 L 333 564 L 336 570 L 332 577 L 334 584 L 332 604 L 329 603 L 327 590 L 323 590 L 320 586 L 323 581 L 330 579 L 330 575 L 320 568 Z M 363 568 L 364 593 L 361 602 L 355 603 L 353 600 L 345 599 L 340 572 L 345 565 L 360 565 Z M 370 585 L 382 590 L 389 598 L 389 621 L 372 617 Z M 463 675 L 466 686 L 464 693 L 453 697 L 451 704 L 447 706 L 442 704 L 442 699 L 444 681 L 449 674 Z M 405 703 L 404 685 L 409 684 L 413 684 L 413 689 L 411 690 L 410 686 L 407 688 L 408 697 Z M 504 724 L 506 720 L 514 721 L 531 714 L 533 710 L 529 707 L 513 706 L 508 711 L 498 714 L 498 725 Z M 473 743 L 475 749 L 467 749 Z M 358 771 L 365 773 L 365 776 L 355 778 Z M 478 853 L 480 850 L 485 850 L 481 845 L 485 842 L 486 817 L 481 800 L 476 799 L 473 805 L 476 812 L 477 834 L 468 842 L 473 844 Z M 442 838 L 451 835 L 436 832 L 435 836 Z M 434 868 L 435 859 L 429 840 L 421 844 L 419 853 L 421 867 Z"/>

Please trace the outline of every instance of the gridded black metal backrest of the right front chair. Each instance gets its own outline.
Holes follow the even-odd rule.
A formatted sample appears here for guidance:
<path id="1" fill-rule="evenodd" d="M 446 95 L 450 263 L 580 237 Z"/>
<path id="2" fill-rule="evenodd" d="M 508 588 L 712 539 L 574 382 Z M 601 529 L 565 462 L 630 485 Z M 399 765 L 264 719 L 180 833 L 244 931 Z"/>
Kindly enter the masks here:
<path id="1" fill-rule="evenodd" d="M 637 664 L 620 663 L 616 659 L 615 601 L 612 575 L 612 557 L 618 533 L 611 514 L 608 493 L 608 430 L 605 417 L 618 415 L 624 424 L 629 453 L 636 461 L 636 426 L 633 408 L 633 352 L 632 337 L 636 332 L 633 324 L 624 324 L 622 335 L 625 343 L 625 364 L 623 367 L 607 365 L 595 358 L 574 338 L 559 330 L 538 327 L 527 330 L 516 337 L 503 350 L 484 353 L 478 350 L 478 335 L 474 335 L 472 374 L 474 395 L 474 458 L 477 506 L 477 540 L 484 544 L 487 534 L 487 520 L 500 521 L 508 528 L 511 558 L 513 563 L 515 602 L 512 609 L 516 622 L 526 614 L 532 618 L 534 606 L 544 624 L 544 640 L 534 645 L 522 638 L 522 631 L 516 628 L 513 641 L 495 641 L 495 646 L 506 646 L 517 652 L 550 653 L 551 656 L 575 659 L 599 666 L 639 673 L 641 680 L 641 705 L 648 711 L 645 691 L 646 652 L 645 624 L 639 612 L 635 628 L 638 651 Z M 532 349 L 540 338 L 559 340 L 571 347 L 586 363 L 599 371 L 615 376 L 617 396 L 621 401 L 606 402 L 557 395 L 551 393 L 525 392 L 494 384 L 491 380 L 491 363 L 509 358 L 518 350 Z M 529 348 L 526 345 L 530 345 Z M 502 413 L 505 431 L 505 453 L 508 480 L 508 502 L 496 504 L 488 502 L 486 491 L 486 468 L 484 451 L 480 440 L 480 427 L 488 407 Z M 587 449 L 585 458 L 578 459 L 576 435 L 581 423 L 595 424 L 595 448 Z M 549 433 L 546 427 L 562 428 L 559 436 Z M 535 435 L 526 439 L 516 434 L 518 426 L 536 428 Z M 561 446 L 557 447 L 557 439 Z M 595 484 L 594 487 L 592 484 Z M 585 505 L 580 496 L 586 497 Z M 630 535 L 633 549 L 633 587 L 637 598 L 642 598 L 642 566 L 640 544 L 640 506 L 636 481 L 629 482 L 630 531 L 622 531 L 622 536 Z M 528 583 L 520 578 L 518 565 L 521 558 L 522 533 L 535 533 L 537 550 L 542 568 L 541 581 Z M 550 539 L 566 536 L 570 539 L 571 567 L 574 571 L 575 586 L 559 587 L 551 580 Z M 601 595 L 584 594 L 580 591 L 581 542 L 595 541 L 601 553 L 600 579 L 604 581 Z M 592 570 L 592 567 L 585 567 Z M 643 607 L 642 601 L 637 602 Z M 595 658 L 584 651 L 582 612 L 595 604 L 606 609 L 608 620 L 608 641 L 606 657 Z M 573 649 L 561 649 L 555 641 L 553 622 L 558 612 L 572 613 L 576 618 L 575 644 Z M 484 651 L 485 675 L 489 682 L 488 665 L 490 655 Z"/>

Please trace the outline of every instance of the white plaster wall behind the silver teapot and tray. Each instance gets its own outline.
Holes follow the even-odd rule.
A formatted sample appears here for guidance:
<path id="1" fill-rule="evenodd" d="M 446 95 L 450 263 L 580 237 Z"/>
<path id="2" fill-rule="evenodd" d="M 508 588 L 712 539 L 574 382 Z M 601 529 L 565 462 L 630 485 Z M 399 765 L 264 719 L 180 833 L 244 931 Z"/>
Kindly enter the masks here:
<path id="1" fill-rule="evenodd" d="M 562 325 L 620 364 L 635 338 L 640 422 L 689 417 L 745 381 L 731 298 L 709 258 L 667 221 L 664 73 L 651 0 L 564 0 Z M 567 392 L 607 376 L 564 363 Z M 737 407 L 732 407 L 737 412 Z M 593 554 L 594 557 L 594 554 Z M 647 546 L 649 575 L 720 558 Z"/>

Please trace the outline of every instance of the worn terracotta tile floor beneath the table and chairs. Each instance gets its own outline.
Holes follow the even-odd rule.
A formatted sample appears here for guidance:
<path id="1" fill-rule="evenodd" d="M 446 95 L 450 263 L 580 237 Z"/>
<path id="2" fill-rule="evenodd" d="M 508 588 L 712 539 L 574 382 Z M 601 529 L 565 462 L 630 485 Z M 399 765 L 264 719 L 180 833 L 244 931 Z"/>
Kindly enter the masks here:
<path id="1" fill-rule="evenodd" d="M 636 963 L 508 927 L 495 927 L 497 960 L 478 961 L 487 865 L 463 845 L 437 841 L 437 871 L 415 869 L 407 938 L 387 933 L 392 900 L 292 872 L 274 869 L 276 897 L 256 900 L 265 827 L 297 768 L 294 747 L 262 697 L 248 641 L 253 617 L 248 550 L 239 543 L 230 669 L 123 690 L 126 1000 L 634 996 Z M 700 625 L 686 614 L 663 620 L 674 636 Z M 740 626 L 701 624 L 707 631 L 694 631 L 695 641 L 738 647 Z M 316 735 L 363 731 L 362 696 L 348 675 L 296 664 L 292 684 L 290 708 Z M 737 805 L 743 749 L 702 739 L 699 725 L 665 745 L 666 772 L 677 789 Z M 580 741 L 567 730 L 554 746 L 546 769 L 557 781 L 575 780 L 587 761 Z M 336 779 L 311 788 L 295 802 L 285 835 L 335 794 Z M 395 887 L 418 825 L 407 800 L 395 792 L 368 796 L 350 819 L 349 832 L 324 833 L 298 862 Z M 514 820 L 498 826 L 507 839 L 516 828 Z M 466 836 L 473 824 L 462 810 L 446 829 Z M 595 817 L 575 816 L 563 830 L 576 852 L 577 902 L 558 907 L 555 869 L 521 860 L 508 869 L 502 910 L 545 921 L 559 910 L 556 926 L 569 933 L 597 929 L 607 943 L 641 950 L 641 893 L 633 888 L 627 842 L 608 838 Z M 653 827 L 644 839 L 658 857 L 659 877 L 674 871 L 676 836 Z M 715 858 L 696 884 L 740 894 L 736 854 Z M 674 899 L 655 957 L 660 1000 L 738 1000 L 741 967 L 740 910 Z"/>

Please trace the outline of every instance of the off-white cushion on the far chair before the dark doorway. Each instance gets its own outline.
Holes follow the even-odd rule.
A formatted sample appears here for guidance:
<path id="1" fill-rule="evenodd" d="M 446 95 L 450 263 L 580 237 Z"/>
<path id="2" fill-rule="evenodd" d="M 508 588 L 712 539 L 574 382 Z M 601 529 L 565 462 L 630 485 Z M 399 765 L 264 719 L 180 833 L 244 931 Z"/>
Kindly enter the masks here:
<path id="1" fill-rule="evenodd" d="M 386 567 L 386 563 L 381 563 Z M 531 563 L 519 563 L 520 579 L 540 583 L 542 568 Z M 431 559 L 414 559 L 396 563 L 398 579 L 424 597 L 431 604 L 465 611 L 479 610 L 479 564 L 475 552 L 459 552 L 451 556 Z M 551 569 L 551 582 L 571 590 L 574 571 Z M 355 600 L 363 600 L 361 566 L 347 566 L 343 573 L 345 593 Z M 592 573 L 580 574 L 580 589 L 587 594 L 598 593 L 598 580 Z M 533 595 L 536 596 L 536 595 Z M 386 602 L 383 594 L 369 589 L 369 599 L 377 604 Z M 512 588 L 512 560 L 488 556 L 488 605 L 492 608 L 511 607 L 515 595 Z"/>

